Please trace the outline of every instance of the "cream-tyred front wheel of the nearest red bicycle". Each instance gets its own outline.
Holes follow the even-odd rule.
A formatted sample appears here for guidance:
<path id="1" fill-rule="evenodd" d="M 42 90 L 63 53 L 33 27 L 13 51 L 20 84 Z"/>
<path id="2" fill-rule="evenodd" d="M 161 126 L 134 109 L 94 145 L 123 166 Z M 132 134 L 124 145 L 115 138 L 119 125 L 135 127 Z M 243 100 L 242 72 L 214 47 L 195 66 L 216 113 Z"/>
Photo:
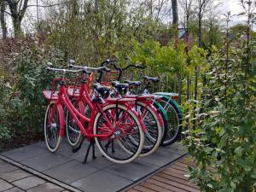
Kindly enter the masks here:
<path id="1" fill-rule="evenodd" d="M 61 112 L 54 101 L 50 102 L 44 118 L 44 137 L 47 148 L 50 152 L 55 152 L 61 145 Z"/>

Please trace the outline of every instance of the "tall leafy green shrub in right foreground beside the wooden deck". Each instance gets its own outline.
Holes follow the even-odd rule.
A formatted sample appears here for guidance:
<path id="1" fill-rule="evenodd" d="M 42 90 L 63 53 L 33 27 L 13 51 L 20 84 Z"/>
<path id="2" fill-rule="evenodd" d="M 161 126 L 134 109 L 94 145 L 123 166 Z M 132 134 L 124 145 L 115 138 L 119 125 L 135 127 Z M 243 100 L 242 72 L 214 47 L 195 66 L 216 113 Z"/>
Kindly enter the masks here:
<path id="1" fill-rule="evenodd" d="M 184 110 L 183 144 L 196 161 L 189 174 L 202 191 L 256 190 L 253 48 L 253 39 L 212 47 L 201 100 L 190 100 Z"/>

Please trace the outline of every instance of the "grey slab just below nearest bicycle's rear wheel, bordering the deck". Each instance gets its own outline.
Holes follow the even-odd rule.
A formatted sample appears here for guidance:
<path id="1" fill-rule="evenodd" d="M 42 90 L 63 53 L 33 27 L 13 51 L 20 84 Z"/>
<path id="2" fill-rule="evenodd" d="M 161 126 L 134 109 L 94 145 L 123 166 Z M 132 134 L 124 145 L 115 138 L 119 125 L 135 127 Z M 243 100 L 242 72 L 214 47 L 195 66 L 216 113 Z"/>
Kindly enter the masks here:
<path id="1" fill-rule="evenodd" d="M 153 166 L 141 160 L 136 160 L 125 165 L 114 164 L 113 166 L 108 166 L 104 171 L 111 172 L 119 177 L 124 177 L 132 181 L 137 181 L 149 173 L 156 171 L 158 168 L 158 166 Z"/>

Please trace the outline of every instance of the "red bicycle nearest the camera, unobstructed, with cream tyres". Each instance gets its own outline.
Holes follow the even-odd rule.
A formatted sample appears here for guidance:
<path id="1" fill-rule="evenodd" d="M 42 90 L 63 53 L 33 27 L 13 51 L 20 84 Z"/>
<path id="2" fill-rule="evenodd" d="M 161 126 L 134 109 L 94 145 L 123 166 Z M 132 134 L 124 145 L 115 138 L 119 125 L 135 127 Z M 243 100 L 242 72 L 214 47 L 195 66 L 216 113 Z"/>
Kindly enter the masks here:
<path id="1" fill-rule="evenodd" d="M 49 101 L 44 119 L 44 137 L 49 151 L 55 152 L 60 147 L 62 137 L 65 135 L 63 108 L 66 108 L 72 116 L 72 120 L 79 126 L 79 131 L 90 142 L 90 146 L 94 147 L 93 143 L 95 142 L 108 160 L 115 163 L 129 163 L 135 160 L 143 149 L 145 131 L 143 122 L 133 109 L 135 99 L 110 98 L 103 100 L 97 94 L 97 92 L 102 91 L 102 88 L 95 85 L 96 96 L 91 99 L 92 108 L 90 118 L 88 118 L 70 101 L 67 95 L 69 79 L 65 78 L 65 74 L 81 72 L 89 74 L 90 72 L 86 68 L 79 70 L 53 68 L 51 63 L 47 69 L 63 73 L 62 78 L 53 79 L 51 90 L 43 91 L 44 97 Z M 59 84 L 58 91 L 55 91 L 56 83 Z M 81 89 L 86 92 L 85 84 L 82 84 Z M 90 97 L 87 97 L 86 94 L 80 96 L 84 100 Z M 79 106 L 82 106 L 81 102 L 79 102 Z M 135 138 L 137 144 L 133 142 Z M 114 151 L 108 150 L 108 143 L 113 144 Z M 90 146 L 85 155 L 84 163 L 87 160 Z"/>

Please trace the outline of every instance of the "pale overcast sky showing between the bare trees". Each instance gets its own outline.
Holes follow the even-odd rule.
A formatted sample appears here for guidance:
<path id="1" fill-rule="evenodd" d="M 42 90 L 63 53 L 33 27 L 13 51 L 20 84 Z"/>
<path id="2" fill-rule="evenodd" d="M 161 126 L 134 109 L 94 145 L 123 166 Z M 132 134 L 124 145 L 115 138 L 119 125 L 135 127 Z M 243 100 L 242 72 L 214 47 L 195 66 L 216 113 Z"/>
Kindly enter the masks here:
<path id="1" fill-rule="evenodd" d="M 38 0 L 38 4 L 42 4 L 41 2 L 42 0 Z M 214 0 L 215 3 L 218 2 L 219 0 Z M 242 9 L 241 9 L 241 5 L 239 5 L 240 0 L 221 0 L 222 4 L 218 7 L 218 14 L 225 14 L 228 11 L 231 11 L 232 15 L 237 15 L 239 13 L 241 13 Z M 29 1 L 30 4 L 36 4 L 37 0 L 30 0 Z M 53 2 L 55 2 L 55 0 L 53 0 Z M 44 19 L 45 18 L 45 13 L 46 10 L 45 8 L 38 8 L 39 9 L 39 20 Z M 171 19 L 171 18 L 170 18 Z M 240 17 L 233 17 L 233 19 L 230 22 L 230 25 L 236 25 L 237 23 L 241 23 L 243 22 L 244 18 Z M 30 7 L 29 9 L 27 9 L 26 12 L 26 18 L 23 20 L 22 22 L 22 26 L 24 29 L 27 29 L 27 31 L 30 31 L 33 26 L 32 24 L 35 23 L 37 21 L 37 12 L 36 12 L 36 7 Z M 9 26 L 9 32 L 11 32 L 11 20 L 9 18 L 8 20 L 8 26 Z"/>

